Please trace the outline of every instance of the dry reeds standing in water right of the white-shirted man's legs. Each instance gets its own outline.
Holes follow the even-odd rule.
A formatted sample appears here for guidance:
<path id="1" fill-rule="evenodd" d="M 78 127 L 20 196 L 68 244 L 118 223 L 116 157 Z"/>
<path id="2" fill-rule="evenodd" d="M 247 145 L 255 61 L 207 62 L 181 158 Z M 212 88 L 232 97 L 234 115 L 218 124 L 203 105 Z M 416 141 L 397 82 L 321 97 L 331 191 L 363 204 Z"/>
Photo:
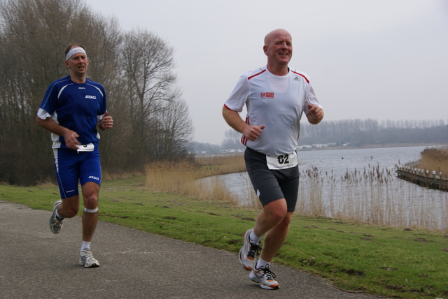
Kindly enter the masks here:
<path id="1" fill-rule="evenodd" d="M 321 196 L 316 196 L 316 190 Z M 314 203 L 317 200 L 318 203 Z M 447 192 L 419 187 L 393 170 L 368 166 L 336 177 L 317 168 L 301 171 L 296 212 L 379 226 L 448 232 Z"/>

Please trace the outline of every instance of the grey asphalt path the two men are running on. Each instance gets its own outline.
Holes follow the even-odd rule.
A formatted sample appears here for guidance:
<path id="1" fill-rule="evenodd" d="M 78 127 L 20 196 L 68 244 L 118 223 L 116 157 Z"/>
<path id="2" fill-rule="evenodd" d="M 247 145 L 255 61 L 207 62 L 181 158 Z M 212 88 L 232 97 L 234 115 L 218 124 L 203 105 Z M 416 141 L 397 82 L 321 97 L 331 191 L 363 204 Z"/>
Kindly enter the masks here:
<path id="1" fill-rule="evenodd" d="M 50 232 L 50 212 L 0 201 L 0 298 L 374 298 L 272 265 L 280 289 L 262 290 L 237 254 L 99 221 L 92 252 L 78 265 L 80 218 Z"/>

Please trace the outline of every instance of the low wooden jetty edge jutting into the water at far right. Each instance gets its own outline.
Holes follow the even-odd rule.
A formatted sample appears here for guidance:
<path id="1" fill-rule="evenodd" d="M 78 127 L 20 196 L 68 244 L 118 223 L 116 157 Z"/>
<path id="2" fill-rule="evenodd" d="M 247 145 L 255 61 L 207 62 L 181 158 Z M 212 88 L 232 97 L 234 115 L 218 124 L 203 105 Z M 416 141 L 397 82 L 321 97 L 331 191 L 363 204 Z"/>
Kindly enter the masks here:
<path id="1" fill-rule="evenodd" d="M 419 165 L 419 161 L 413 161 L 396 166 L 398 177 L 402 180 L 407 180 L 414 184 L 418 184 L 421 187 L 427 187 L 430 189 L 437 189 L 442 191 L 448 191 L 448 177 L 442 172 L 436 173 L 416 168 Z"/>

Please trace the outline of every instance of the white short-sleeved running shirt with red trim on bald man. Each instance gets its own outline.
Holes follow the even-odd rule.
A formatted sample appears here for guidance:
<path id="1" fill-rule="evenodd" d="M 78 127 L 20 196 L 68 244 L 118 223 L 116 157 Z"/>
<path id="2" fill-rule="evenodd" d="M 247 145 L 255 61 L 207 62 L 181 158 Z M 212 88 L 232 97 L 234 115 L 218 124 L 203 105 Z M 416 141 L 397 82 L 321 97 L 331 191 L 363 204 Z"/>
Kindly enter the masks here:
<path id="1" fill-rule="evenodd" d="M 278 76 L 264 66 L 239 78 L 225 107 L 241 112 L 246 105 L 246 123 L 266 126 L 257 139 L 243 136 L 241 143 L 262 154 L 280 156 L 295 152 L 308 103 L 321 107 L 306 74 L 290 68 L 287 75 Z"/>

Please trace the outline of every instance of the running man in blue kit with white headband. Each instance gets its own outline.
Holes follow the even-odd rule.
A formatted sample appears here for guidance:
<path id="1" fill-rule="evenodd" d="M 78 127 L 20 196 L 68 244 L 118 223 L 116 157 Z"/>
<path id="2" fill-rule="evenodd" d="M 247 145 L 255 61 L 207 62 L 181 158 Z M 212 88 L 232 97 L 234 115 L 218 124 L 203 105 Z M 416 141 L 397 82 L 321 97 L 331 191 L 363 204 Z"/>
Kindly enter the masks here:
<path id="1" fill-rule="evenodd" d="M 101 184 L 99 131 L 111 129 L 113 118 L 106 111 L 106 92 L 87 79 L 89 59 L 81 45 L 69 45 L 65 65 L 70 74 L 50 84 L 37 112 L 37 123 L 51 132 L 55 171 L 61 199 L 56 200 L 50 229 L 59 233 L 64 218 L 79 210 L 78 182 L 83 193 L 83 242 L 79 264 L 99 266 L 92 256 L 92 240 L 98 221 L 98 194 Z"/>

